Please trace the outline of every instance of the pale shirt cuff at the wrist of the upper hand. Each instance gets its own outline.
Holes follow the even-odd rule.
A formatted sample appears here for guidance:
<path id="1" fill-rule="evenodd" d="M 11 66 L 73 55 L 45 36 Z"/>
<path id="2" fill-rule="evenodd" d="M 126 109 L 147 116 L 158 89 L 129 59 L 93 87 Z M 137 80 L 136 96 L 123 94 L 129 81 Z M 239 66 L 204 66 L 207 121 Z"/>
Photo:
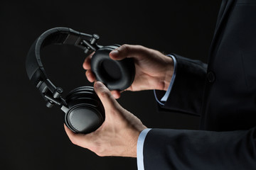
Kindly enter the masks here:
<path id="1" fill-rule="evenodd" d="M 169 87 L 166 91 L 166 93 L 164 94 L 164 96 L 159 100 L 159 98 L 156 96 L 156 90 L 154 90 L 154 96 L 156 98 L 157 103 L 159 103 L 161 106 L 164 106 L 164 103 L 167 101 L 167 98 L 169 97 L 170 93 L 171 93 L 171 88 L 174 85 L 174 80 L 176 77 L 176 58 L 173 55 L 168 55 L 169 57 L 171 57 L 174 60 L 174 74 L 171 77 L 171 82 L 169 84 Z"/>

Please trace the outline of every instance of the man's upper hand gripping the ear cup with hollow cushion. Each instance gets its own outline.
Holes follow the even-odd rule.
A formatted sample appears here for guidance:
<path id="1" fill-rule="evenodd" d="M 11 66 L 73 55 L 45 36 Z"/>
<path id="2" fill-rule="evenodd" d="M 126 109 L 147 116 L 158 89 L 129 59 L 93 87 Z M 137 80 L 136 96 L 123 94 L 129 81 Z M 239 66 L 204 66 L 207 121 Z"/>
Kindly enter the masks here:
<path id="1" fill-rule="evenodd" d="M 167 90 L 174 72 L 174 63 L 171 57 L 161 52 L 141 45 L 122 45 L 110 52 L 112 60 L 133 58 L 135 63 L 135 77 L 129 91 L 141 91 L 149 89 Z M 86 57 L 83 68 L 87 69 L 85 75 L 90 82 L 95 81 L 95 75 L 91 71 L 90 61 L 92 55 Z M 119 98 L 120 91 L 111 91 L 114 98 Z"/>

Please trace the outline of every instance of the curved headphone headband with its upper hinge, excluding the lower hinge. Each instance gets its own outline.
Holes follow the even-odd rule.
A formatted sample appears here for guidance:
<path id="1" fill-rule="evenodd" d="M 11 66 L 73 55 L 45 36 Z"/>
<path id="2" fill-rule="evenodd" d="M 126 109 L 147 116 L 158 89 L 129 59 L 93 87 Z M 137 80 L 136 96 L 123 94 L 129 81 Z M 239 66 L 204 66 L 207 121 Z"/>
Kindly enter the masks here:
<path id="1" fill-rule="evenodd" d="M 40 57 L 40 52 L 43 47 L 53 44 L 75 45 L 76 47 L 80 47 L 82 50 L 85 50 L 85 53 L 89 53 L 99 48 L 95 43 L 98 39 L 99 36 L 96 34 L 90 35 L 80 33 L 70 28 L 59 27 L 47 30 L 37 38 L 35 42 L 33 42 L 33 45 L 28 52 L 26 59 L 26 72 L 28 74 L 28 78 L 33 82 L 37 81 L 32 78 L 38 69 L 41 69 L 41 74 L 44 74 L 44 77 L 46 77 Z M 36 78 L 38 79 L 38 77 L 35 77 L 35 79 Z"/>

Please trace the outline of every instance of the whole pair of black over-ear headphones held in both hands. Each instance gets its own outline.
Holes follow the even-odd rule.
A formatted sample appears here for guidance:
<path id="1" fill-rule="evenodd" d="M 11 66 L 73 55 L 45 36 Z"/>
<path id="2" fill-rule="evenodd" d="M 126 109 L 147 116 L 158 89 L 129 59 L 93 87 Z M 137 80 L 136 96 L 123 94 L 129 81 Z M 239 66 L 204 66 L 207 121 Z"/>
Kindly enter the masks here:
<path id="1" fill-rule="evenodd" d="M 39 89 L 47 101 L 48 108 L 57 105 L 65 113 L 64 123 L 73 132 L 90 133 L 102 125 L 105 109 L 93 87 L 82 86 L 70 91 L 63 98 L 63 89 L 55 87 L 46 76 L 41 63 L 40 52 L 47 45 L 75 45 L 84 50 L 85 55 L 92 55 L 92 72 L 98 81 L 102 81 L 110 90 L 124 90 L 134 80 L 135 67 L 132 59 L 111 60 L 109 53 L 119 45 L 97 45 L 99 35 L 79 33 L 70 28 L 52 28 L 33 42 L 27 58 L 28 78 Z"/>

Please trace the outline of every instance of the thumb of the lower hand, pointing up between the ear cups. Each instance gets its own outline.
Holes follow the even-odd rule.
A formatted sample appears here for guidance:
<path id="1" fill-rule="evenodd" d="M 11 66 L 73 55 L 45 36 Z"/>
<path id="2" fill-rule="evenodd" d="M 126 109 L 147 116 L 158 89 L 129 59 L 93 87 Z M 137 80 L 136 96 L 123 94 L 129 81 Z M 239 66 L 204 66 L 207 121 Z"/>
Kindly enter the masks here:
<path id="1" fill-rule="evenodd" d="M 102 82 L 96 81 L 94 84 L 94 89 L 97 96 L 99 96 L 100 101 L 102 101 L 105 109 L 116 108 L 119 105 L 110 93 L 110 90 L 107 89 L 107 87 L 102 84 Z"/>

